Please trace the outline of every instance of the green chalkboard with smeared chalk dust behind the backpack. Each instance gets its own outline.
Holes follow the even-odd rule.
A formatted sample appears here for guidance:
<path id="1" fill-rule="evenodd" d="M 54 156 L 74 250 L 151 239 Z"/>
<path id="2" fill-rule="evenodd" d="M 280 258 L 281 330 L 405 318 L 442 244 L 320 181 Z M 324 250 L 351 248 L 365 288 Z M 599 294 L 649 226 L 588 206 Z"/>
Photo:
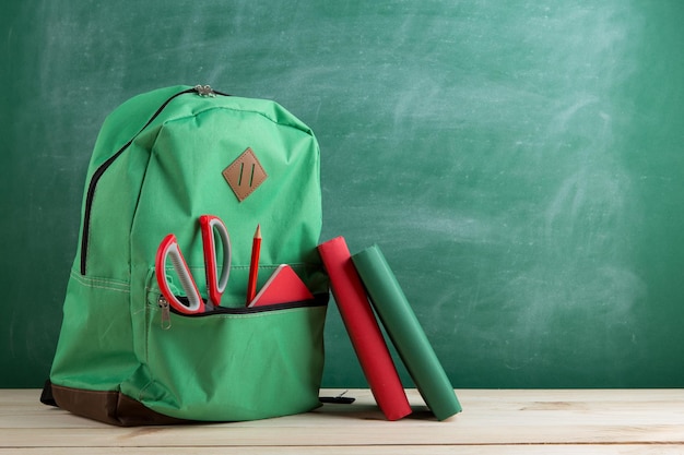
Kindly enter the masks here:
<path id="1" fill-rule="evenodd" d="M 683 2 L 5 3 L 0 386 L 48 374 L 105 116 L 198 83 L 314 129 L 321 240 L 380 244 L 455 386 L 684 386 Z"/>

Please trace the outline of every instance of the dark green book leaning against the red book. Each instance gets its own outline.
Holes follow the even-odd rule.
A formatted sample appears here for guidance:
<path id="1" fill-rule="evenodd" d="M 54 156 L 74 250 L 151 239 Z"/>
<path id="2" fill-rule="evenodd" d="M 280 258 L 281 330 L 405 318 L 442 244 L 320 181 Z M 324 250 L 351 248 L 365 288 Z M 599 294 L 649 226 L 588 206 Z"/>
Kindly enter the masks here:
<path id="1" fill-rule="evenodd" d="M 352 260 L 385 330 L 435 417 L 445 420 L 460 412 L 453 386 L 378 246 Z"/>

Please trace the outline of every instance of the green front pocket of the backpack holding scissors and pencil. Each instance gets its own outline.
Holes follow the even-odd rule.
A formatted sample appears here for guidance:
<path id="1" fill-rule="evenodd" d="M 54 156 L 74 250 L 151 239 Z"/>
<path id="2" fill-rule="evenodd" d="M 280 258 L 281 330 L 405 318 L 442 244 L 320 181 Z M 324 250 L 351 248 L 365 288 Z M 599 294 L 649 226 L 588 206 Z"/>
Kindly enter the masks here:
<path id="1" fill-rule="evenodd" d="M 122 392 L 160 414 L 237 421 L 319 406 L 327 296 L 184 315 L 148 291 L 141 369 Z M 142 334 L 141 334 L 142 335 Z"/>

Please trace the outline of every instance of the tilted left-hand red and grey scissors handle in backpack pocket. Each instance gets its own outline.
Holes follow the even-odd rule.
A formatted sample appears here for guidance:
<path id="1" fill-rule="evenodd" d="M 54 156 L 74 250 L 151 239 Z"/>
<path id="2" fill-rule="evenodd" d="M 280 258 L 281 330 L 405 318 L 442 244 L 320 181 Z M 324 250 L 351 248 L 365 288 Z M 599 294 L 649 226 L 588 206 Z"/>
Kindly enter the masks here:
<path id="1" fill-rule="evenodd" d="M 178 275 L 180 286 L 182 286 L 182 289 L 188 297 L 188 304 L 181 302 L 168 286 L 168 282 L 166 279 L 167 259 L 170 259 L 174 270 L 176 271 L 176 275 Z M 204 301 L 200 296 L 200 291 L 197 288 L 194 279 L 192 279 L 192 275 L 190 275 L 190 270 L 188 268 L 188 264 L 180 252 L 180 248 L 178 248 L 178 240 L 173 234 L 166 236 L 164 240 L 162 240 L 162 243 L 160 243 L 154 261 L 154 268 L 162 295 L 172 307 L 184 314 L 203 313 L 205 311 Z"/>

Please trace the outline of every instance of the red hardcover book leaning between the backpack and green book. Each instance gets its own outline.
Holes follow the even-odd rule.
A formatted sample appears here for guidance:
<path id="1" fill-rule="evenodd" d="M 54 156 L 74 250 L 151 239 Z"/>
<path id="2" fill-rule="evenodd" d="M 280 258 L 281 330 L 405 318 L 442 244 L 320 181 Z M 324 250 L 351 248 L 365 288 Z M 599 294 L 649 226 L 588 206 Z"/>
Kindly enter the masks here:
<path id="1" fill-rule="evenodd" d="M 338 237 L 321 243 L 318 251 L 375 400 L 388 420 L 399 420 L 410 415 L 406 394 L 344 238 Z"/>

